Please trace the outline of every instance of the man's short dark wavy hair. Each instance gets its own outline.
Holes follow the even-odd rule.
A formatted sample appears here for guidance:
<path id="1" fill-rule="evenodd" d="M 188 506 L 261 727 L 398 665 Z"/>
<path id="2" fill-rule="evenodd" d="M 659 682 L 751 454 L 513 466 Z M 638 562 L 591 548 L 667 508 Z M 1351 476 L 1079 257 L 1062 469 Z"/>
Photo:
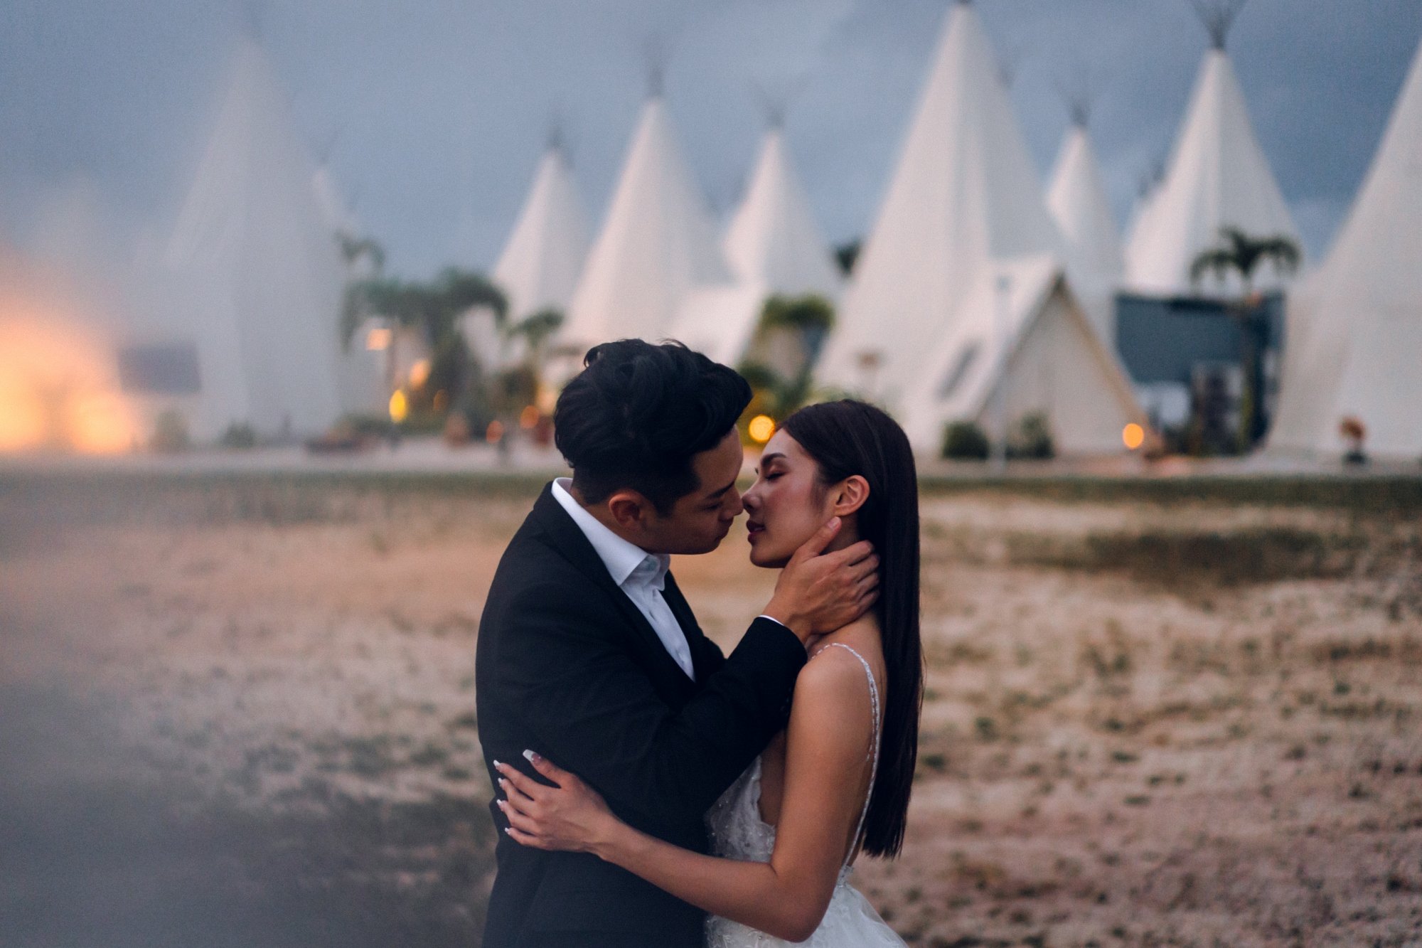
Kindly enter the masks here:
<path id="1" fill-rule="evenodd" d="M 603 343 L 583 366 L 557 397 L 553 440 L 590 504 L 630 488 L 670 512 L 700 487 L 691 458 L 714 448 L 751 403 L 734 369 L 678 342 Z"/>

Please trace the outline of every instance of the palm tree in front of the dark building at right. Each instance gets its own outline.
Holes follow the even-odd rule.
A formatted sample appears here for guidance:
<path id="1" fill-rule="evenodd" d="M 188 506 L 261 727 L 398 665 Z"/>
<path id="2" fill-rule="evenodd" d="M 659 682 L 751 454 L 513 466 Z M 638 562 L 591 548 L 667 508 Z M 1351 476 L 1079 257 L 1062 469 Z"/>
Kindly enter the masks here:
<path id="1" fill-rule="evenodd" d="M 1263 352 L 1268 339 L 1263 299 L 1254 292 L 1254 273 L 1266 260 L 1273 262 L 1280 273 L 1294 273 L 1303 253 L 1298 243 L 1283 233 L 1251 236 L 1239 228 L 1220 228 L 1220 243 L 1202 251 L 1190 263 L 1190 282 L 1199 286 L 1206 273 L 1213 273 L 1224 282 L 1230 273 L 1239 273 L 1243 292 L 1229 306 L 1230 316 L 1240 326 L 1240 367 L 1244 373 L 1244 391 L 1240 397 L 1239 450 L 1249 451 L 1264 434 L 1264 418 L 1258 410 L 1260 391 L 1264 387 Z"/>

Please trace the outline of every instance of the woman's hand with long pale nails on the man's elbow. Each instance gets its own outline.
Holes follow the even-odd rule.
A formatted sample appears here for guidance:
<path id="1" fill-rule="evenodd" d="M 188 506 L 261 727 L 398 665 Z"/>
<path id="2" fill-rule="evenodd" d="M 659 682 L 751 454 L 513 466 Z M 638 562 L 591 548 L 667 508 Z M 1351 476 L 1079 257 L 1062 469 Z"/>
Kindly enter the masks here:
<path id="1" fill-rule="evenodd" d="M 503 774 L 499 789 L 508 797 L 498 800 L 509 821 L 505 833 L 516 843 L 538 850 L 596 854 L 599 843 L 616 827 L 617 817 L 597 791 L 574 774 L 532 752 L 525 752 L 523 756 L 535 770 L 557 786 L 538 783 L 516 767 L 495 762 L 493 767 Z"/>

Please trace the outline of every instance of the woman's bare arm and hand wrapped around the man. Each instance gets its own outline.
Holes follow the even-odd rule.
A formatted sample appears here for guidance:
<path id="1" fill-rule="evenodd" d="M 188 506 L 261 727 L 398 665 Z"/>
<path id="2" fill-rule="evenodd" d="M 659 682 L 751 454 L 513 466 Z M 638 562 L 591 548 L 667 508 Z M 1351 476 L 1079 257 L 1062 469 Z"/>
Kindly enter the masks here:
<path id="1" fill-rule="evenodd" d="M 852 656 L 830 649 L 801 672 L 786 734 L 785 796 L 769 863 L 715 858 L 617 820 L 577 777 L 546 760 L 546 787 L 501 764 L 509 836 L 525 846 L 590 851 L 714 915 L 803 941 L 829 907 L 859 821 L 872 734 L 869 686 Z"/>

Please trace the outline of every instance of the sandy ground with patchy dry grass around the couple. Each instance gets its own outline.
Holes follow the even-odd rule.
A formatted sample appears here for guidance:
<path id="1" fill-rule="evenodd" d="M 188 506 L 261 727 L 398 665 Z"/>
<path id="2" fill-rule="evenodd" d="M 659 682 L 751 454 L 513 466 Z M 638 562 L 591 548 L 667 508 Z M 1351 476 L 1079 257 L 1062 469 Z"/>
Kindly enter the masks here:
<path id="1" fill-rule="evenodd" d="M 0 488 L 4 485 L 0 484 Z M 0 942 L 468 945 L 519 491 L 0 490 Z M 738 531 L 675 564 L 724 646 Z M 924 500 L 913 945 L 1422 944 L 1422 524 Z"/>

